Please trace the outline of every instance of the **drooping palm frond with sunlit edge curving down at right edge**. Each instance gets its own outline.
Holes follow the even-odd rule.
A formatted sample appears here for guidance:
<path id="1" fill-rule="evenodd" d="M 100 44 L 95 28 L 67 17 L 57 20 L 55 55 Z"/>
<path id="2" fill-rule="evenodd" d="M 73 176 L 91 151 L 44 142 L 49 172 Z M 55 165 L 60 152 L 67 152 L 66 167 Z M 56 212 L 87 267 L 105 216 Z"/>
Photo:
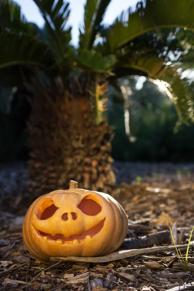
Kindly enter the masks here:
<path id="1" fill-rule="evenodd" d="M 166 62 L 156 53 L 149 53 L 120 59 L 115 74 L 119 77 L 145 75 L 166 82 L 166 92 L 175 104 L 179 123 L 194 122 L 194 109 L 192 109 L 194 94 L 189 88 L 187 80 L 182 78 L 179 65 Z"/>

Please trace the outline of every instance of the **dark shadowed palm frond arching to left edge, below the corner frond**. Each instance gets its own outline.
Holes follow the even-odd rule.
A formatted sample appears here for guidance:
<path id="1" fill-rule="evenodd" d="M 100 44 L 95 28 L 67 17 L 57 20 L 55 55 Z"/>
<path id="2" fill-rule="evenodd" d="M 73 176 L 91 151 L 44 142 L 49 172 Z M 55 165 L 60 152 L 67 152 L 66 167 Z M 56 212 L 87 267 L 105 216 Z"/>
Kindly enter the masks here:
<path id="1" fill-rule="evenodd" d="M 27 35 L 0 32 L 0 69 L 13 65 L 49 69 L 54 64 L 54 56 L 45 42 Z"/>

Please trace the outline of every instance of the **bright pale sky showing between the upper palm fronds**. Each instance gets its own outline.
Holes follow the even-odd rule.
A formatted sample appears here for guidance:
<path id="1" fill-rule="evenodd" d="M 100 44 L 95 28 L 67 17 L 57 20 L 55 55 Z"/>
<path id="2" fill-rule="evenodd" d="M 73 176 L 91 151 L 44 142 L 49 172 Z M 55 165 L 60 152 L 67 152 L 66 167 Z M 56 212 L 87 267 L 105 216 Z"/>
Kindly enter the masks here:
<path id="1" fill-rule="evenodd" d="M 23 14 L 26 16 L 28 21 L 35 22 L 39 27 L 44 24 L 36 4 L 33 0 L 16 0 L 21 6 Z M 71 14 L 69 17 L 69 24 L 72 25 L 72 42 L 74 45 L 78 43 L 79 37 L 79 25 L 83 21 L 84 4 L 86 0 L 69 0 L 71 7 Z M 123 10 L 133 6 L 137 3 L 137 0 L 112 0 L 106 11 L 104 22 L 111 24 L 116 16 L 120 15 Z"/>

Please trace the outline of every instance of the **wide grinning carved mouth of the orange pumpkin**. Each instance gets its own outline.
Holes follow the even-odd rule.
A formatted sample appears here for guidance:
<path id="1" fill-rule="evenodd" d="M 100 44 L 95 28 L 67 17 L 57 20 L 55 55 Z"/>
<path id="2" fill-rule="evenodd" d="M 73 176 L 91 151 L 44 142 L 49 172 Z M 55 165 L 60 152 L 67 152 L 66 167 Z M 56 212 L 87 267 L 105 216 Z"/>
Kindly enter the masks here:
<path id="1" fill-rule="evenodd" d="M 44 237 L 47 237 L 48 242 L 55 243 L 56 241 L 61 241 L 63 244 L 74 244 L 77 242 L 79 243 L 83 242 L 87 239 L 91 239 L 95 235 L 97 235 L 97 233 L 100 232 L 100 230 L 104 226 L 105 219 L 106 218 L 104 218 L 100 223 L 98 223 L 97 226 L 94 226 L 88 230 L 85 230 L 81 235 L 74 234 L 74 235 L 71 235 L 69 238 L 65 237 L 61 233 L 58 233 L 55 236 L 53 236 L 50 233 L 46 233 L 46 232 L 36 229 L 34 226 L 32 226 L 32 229 L 38 238 L 43 239 Z"/>

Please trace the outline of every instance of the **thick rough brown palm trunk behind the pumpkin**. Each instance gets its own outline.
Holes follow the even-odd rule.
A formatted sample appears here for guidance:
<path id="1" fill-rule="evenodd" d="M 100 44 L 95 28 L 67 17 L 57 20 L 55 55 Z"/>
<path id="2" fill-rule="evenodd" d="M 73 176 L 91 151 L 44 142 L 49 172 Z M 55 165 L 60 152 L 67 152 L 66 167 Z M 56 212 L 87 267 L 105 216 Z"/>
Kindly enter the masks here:
<path id="1" fill-rule="evenodd" d="M 40 103 L 40 102 L 39 102 Z M 42 102 L 28 122 L 30 181 L 33 197 L 68 189 L 70 179 L 79 188 L 110 192 L 113 131 L 107 122 L 97 125 L 87 97 Z"/>

